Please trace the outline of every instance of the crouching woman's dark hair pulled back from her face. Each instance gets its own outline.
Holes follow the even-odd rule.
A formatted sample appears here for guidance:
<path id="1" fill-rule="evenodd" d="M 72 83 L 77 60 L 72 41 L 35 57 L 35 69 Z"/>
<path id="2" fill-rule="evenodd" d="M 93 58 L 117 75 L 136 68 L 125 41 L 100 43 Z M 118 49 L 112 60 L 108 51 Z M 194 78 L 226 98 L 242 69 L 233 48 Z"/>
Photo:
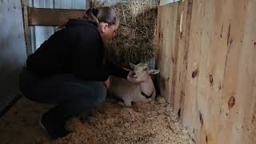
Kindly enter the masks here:
<path id="1" fill-rule="evenodd" d="M 117 22 L 115 11 L 110 7 L 98 7 L 86 10 L 86 14 L 83 18 L 93 22 L 97 26 L 101 22 L 105 22 L 109 25 L 115 25 Z"/>

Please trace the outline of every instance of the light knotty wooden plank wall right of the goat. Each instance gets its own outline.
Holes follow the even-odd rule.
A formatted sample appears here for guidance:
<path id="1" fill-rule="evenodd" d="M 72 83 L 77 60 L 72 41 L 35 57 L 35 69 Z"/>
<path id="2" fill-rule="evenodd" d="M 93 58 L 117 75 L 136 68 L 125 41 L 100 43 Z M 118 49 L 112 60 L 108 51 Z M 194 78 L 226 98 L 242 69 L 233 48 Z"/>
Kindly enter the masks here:
<path id="1" fill-rule="evenodd" d="M 161 94 L 197 143 L 256 143 L 256 1 L 158 9 Z"/>

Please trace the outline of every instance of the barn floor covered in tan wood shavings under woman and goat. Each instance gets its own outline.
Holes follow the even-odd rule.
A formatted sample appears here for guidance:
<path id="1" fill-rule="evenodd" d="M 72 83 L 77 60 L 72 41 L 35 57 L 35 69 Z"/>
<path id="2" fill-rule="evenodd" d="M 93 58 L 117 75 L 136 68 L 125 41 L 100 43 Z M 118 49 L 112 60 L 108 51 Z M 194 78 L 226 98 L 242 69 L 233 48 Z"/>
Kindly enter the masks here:
<path id="1" fill-rule="evenodd" d="M 106 100 L 94 110 L 90 118 L 72 118 L 66 128 L 72 133 L 56 141 L 38 126 L 41 114 L 50 106 L 43 106 L 21 98 L 0 118 L 2 144 L 26 143 L 194 143 L 182 129 L 170 105 L 162 102 L 135 104 L 123 107 Z"/>

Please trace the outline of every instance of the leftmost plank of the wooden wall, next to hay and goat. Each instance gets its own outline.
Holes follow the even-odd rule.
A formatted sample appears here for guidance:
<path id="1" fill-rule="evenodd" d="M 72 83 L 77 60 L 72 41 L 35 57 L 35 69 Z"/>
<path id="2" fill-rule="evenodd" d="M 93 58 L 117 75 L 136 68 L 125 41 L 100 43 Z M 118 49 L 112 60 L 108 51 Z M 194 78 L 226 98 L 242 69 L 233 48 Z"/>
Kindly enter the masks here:
<path id="1" fill-rule="evenodd" d="M 158 69 L 160 94 L 172 103 L 171 87 L 176 40 L 178 3 L 158 6 Z"/>

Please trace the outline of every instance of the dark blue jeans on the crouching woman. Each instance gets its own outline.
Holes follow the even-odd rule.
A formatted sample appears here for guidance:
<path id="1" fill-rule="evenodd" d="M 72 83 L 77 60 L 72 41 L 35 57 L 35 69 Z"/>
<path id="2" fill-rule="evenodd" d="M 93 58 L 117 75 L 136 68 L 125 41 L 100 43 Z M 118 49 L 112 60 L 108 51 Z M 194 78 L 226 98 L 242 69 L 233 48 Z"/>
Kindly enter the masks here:
<path id="1" fill-rule="evenodd" d="M 28 70 L 20 74 L 20 90 L 34 102 L 55 104 L 44 115 L 52 125 L 63 126 L 78 114 L 90 114 L 106 98 L 103 82 L 83 81 L 72 74 L 39 78 Z"/>

